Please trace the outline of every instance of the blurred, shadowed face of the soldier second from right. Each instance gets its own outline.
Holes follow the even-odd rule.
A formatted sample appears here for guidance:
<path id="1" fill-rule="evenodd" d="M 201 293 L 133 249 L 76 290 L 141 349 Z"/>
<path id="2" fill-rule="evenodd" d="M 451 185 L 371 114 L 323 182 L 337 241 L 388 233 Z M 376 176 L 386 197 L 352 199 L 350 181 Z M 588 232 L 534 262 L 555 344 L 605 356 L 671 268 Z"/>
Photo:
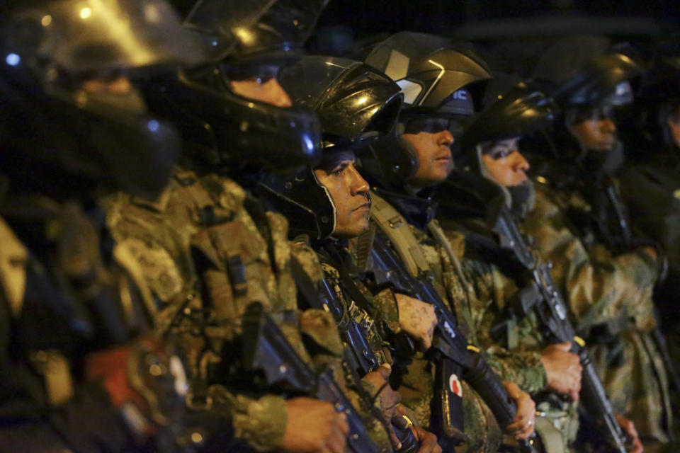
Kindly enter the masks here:
<path id="1" fill-rule="evenodd" d="M 569 130 L 588 151 L 606 152 L 616 146 L 612 108 L 582 108 Z"/>

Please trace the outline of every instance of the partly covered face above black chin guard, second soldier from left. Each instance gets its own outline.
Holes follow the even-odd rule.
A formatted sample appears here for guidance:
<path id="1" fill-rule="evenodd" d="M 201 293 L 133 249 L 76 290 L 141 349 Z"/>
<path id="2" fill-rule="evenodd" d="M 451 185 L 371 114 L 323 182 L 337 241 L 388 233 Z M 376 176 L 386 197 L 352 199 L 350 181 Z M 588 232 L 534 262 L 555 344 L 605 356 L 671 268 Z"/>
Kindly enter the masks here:
<path id="1" fill-rule="evenodd" d="M 276 79 L 278 69 L 278 67 L 257 67 L 256 69 L 246 69 L 241 74 L 234 75 L 232 72 L 229 86 L 234 93 L 244 98 L 276 105 L 277 107 L 290 107 L 293 103 L 290 101 L 288 93 Z"/>

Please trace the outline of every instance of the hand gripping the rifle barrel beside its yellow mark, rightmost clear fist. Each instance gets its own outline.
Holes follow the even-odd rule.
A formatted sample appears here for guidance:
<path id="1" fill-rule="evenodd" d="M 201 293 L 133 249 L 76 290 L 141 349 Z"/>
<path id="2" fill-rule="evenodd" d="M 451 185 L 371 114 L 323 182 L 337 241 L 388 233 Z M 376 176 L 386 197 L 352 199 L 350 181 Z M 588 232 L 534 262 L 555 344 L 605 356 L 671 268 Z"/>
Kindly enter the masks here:
<path id="1" fill-rule="evenodd" d="M 572 344 L 568 341 L 550 345 L 541 353 L 540 361 L 543 362 L 548 377 L 548 389 L 579 401 L 583 368 L 579 356 L 569 352 L 571 347 Z"/>

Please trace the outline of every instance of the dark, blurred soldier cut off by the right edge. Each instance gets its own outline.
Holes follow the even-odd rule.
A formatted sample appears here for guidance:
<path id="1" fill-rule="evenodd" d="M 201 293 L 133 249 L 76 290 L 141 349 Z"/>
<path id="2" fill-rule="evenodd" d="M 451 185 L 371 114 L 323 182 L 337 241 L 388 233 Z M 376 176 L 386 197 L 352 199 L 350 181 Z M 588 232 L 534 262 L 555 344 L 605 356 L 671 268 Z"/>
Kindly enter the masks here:
<path id="1" fill-rule="evenodd" d="M 680 238 L 677 236 L 680 180 L 680 57 L 659 55 L 645 74 L 639 96 L 627 125 L 625 140 L 628 165 L 618 175 L 621 196 L 630 212 L 633 226 L 658 241 L 668 258 L 669 274 L 655 292 L 657 320 L 672 348 L 670 360 L 680 357 L 680 331 L 674 313 L 680 287 Z M 630 142 L 629 142 L 630 140 Z M 669 367 L 670 372 L 670 367 Z M 677 368 L 675 370 L 677 373 Z M 677 374 L 673 382 L 680 391 Z"/>

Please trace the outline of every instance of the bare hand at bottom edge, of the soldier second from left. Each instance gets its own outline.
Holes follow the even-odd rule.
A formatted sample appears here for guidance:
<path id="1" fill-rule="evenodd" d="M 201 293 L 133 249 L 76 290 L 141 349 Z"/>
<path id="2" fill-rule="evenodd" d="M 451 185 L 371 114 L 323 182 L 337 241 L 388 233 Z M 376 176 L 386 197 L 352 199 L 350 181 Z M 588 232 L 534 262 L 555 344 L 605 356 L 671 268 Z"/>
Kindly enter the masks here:
<path id="1" fill-rule="evenodd" d="M 292 453 L 344 453 L 349 433 L 347 417 L 331 403 L 312 398 L 293 398 L 287 404 L 288 418 L 283 449 Z"/>

